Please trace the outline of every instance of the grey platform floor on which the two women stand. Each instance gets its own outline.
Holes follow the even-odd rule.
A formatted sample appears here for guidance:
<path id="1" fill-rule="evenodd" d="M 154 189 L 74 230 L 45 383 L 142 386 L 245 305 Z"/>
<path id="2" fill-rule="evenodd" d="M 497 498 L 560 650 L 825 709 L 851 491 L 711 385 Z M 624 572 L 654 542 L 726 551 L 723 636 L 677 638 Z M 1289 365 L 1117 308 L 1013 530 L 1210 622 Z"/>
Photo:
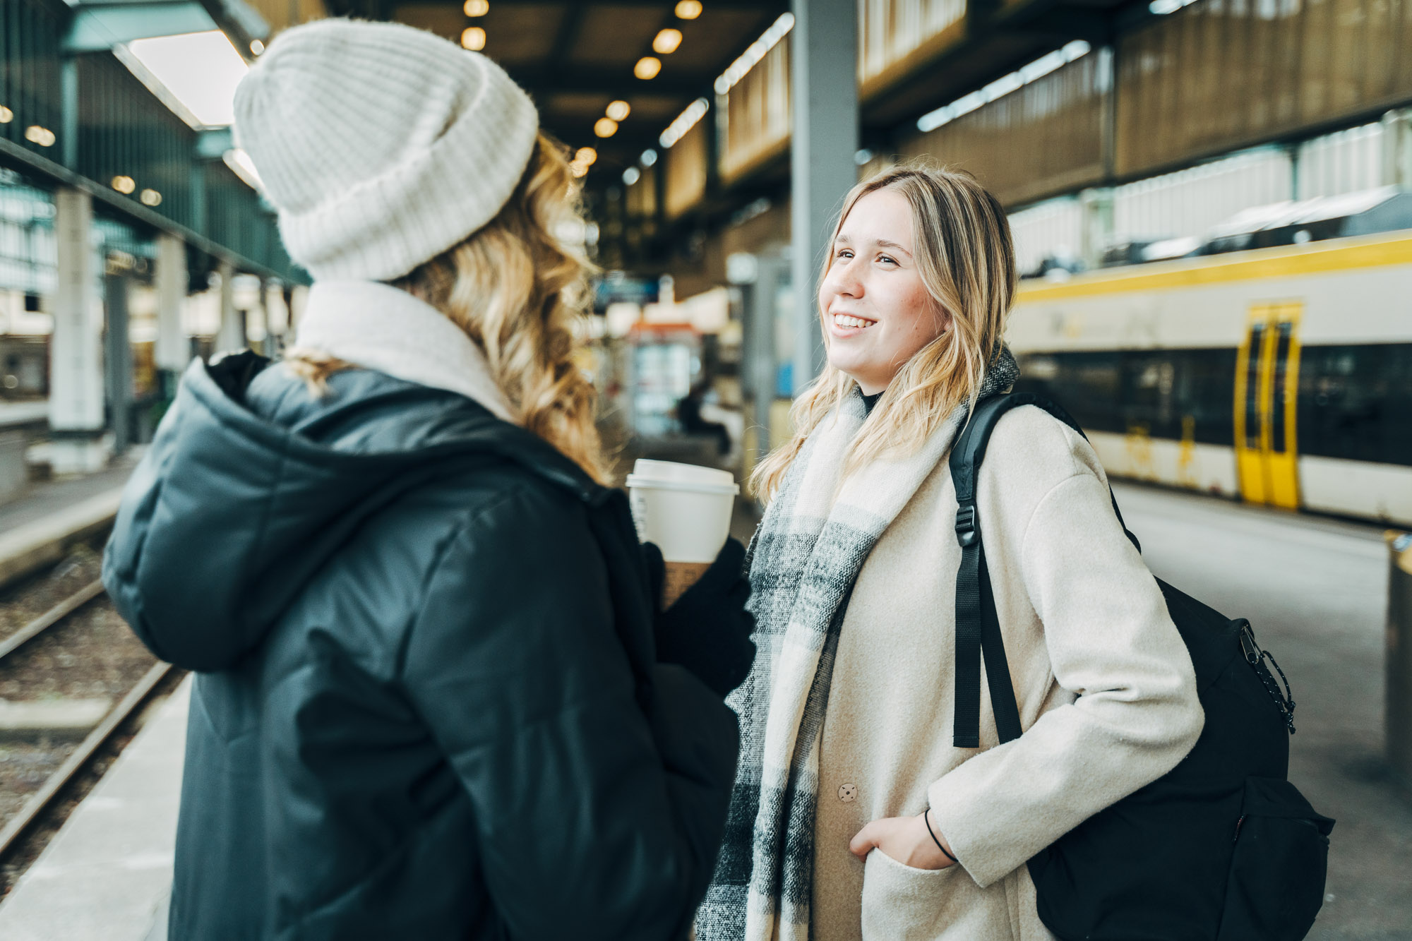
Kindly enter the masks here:
<path id="1" fill-rule="evenodd" d="M 1298 702 L 1291 780 L 1337 819 L 1327 894 L 1308 937 L 1412 937 L 1412 791 L 1382 757 L 1384 530 L 1142 485 L 1114 489 L 1152 571 L 1230 616 L 1248 617 L 1289 677 Z M 731 530 L 748 537 L 751 524 L 741 504 Z M 164 937 L 188 687 L 0 904 L 0 937 Z M 128 817 L 138 808 L 141 825 Z M 55 911 L 76 927 L 56 927 Z M 35 934 L 34 924 L 47 933 Z"/>

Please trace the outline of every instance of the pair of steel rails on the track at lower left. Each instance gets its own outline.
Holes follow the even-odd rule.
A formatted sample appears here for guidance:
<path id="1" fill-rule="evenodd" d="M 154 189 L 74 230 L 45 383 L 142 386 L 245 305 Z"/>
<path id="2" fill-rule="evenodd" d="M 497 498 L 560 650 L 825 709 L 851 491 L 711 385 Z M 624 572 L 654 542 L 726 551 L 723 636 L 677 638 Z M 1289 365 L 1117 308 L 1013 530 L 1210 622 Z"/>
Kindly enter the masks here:
<path id="1" fill-rule="evenodd" d="M 0 663 L 11 657 L 14 651 L 31 643 L 45 632 L 64 623 L 68 617 L 83 609 L 93 599 L 103 595 L 103 582 L 93 579 L 78 589 L 58 605 L 54 605 L 38 617 L 34 617 L 20 630 L 0 640 Z M 0 829 L 0 860 L 10 856 L 11 851 L 23 842 L 28 831 L 40 821 L 45 812 L 56 803 L 65 787 L 78 777 L 113 735 L 131 718 L 152 695 L 162 680 L 172 671 L 167 663 L 154 664 L 127 691 L 119 704 L 99 722 L 92 732 L 78 745 L 65 762 L 51 773 L 44 784 L 24 803 L 20 811 Z"/>

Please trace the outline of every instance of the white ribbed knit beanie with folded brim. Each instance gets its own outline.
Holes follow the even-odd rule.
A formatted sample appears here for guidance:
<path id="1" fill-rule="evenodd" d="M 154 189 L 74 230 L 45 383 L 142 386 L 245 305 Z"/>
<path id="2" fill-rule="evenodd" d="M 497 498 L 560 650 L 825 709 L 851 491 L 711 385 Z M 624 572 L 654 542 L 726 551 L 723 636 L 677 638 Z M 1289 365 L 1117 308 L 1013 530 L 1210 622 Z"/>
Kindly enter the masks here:
<path id="1" fill-rule="evenodd" d="M 315 280 L 387 281 L 480 229 L 538 126 L 498 65 L 391 23 L 285 30 L 236 89 L 236 144 Z"/>

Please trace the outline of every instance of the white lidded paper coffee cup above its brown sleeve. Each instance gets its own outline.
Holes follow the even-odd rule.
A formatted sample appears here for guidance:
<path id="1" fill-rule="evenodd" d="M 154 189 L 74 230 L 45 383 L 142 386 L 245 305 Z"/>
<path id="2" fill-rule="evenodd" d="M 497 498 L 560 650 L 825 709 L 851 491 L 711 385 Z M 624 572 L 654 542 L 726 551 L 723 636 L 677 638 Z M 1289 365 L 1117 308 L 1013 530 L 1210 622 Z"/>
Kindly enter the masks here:
<path id="1" fill-rule="evenodd" d="M 730 535 L 740 485 L 730 470 L 638 461 L 627 475 L 637 535 L 668 562 L 713 562 Z"/>

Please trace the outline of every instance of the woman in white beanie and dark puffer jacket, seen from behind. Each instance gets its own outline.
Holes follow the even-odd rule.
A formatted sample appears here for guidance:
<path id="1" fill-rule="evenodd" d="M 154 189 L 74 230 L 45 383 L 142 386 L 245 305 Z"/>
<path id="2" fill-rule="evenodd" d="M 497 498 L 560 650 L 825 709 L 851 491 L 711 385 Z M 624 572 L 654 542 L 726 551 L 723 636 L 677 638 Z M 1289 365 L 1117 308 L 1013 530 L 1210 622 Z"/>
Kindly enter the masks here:
<path id="1" fill-rule="evenodd" d="M 313 276 L 196 362 L 104 584 L 198 673 L 169 937 L 685 935 L 750 670 L 744 550 L 666 612 L 573 366 L 563 148 L 490 59 L 281 34 L 236 136 Z"/>

